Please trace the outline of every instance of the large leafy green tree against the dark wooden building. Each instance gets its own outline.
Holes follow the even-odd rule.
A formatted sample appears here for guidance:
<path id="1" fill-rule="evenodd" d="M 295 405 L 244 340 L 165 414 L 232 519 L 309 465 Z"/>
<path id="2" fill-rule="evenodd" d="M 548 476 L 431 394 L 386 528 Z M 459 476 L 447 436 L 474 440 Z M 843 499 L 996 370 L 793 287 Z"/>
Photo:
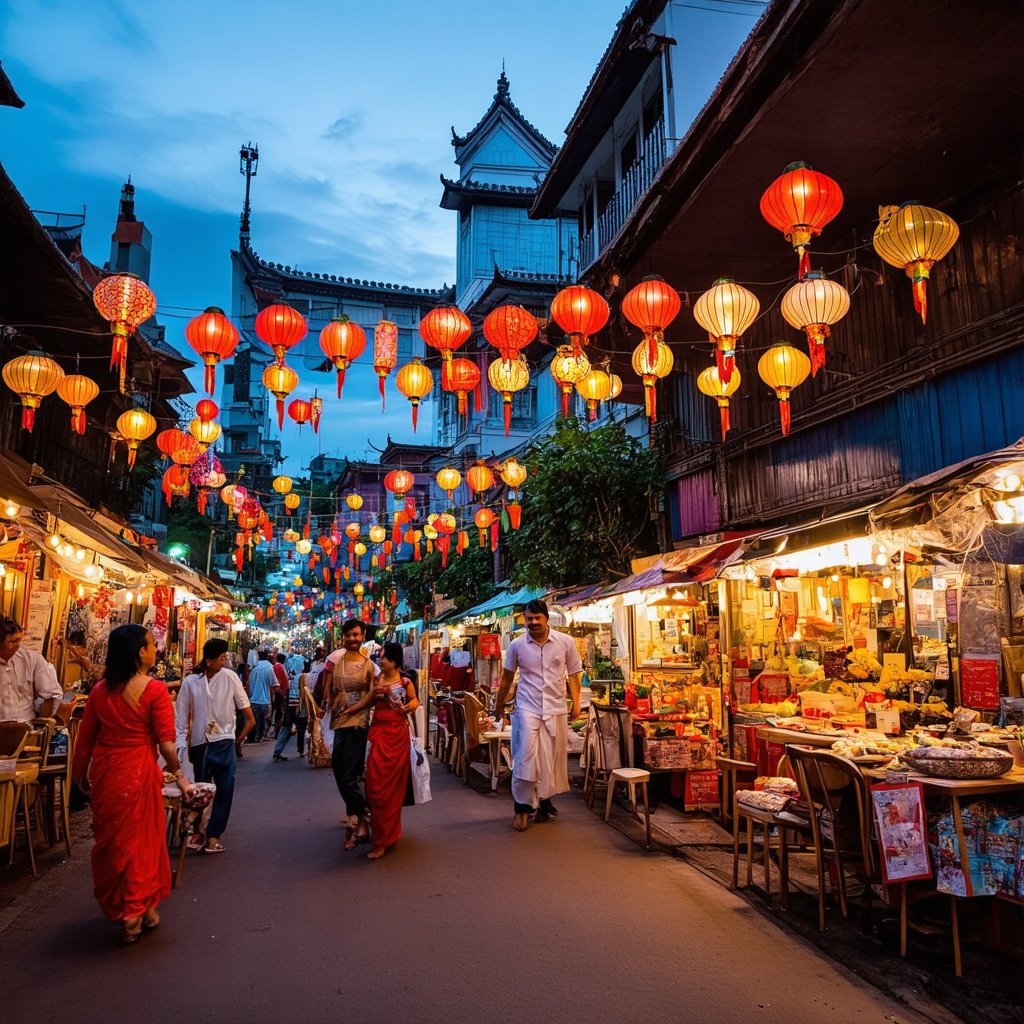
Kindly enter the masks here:
<path id="1" fill-rule="evenodd" d="M 656 548 L 650 498 L 662 485 L 657 449 L 618 425 L 562 420 L 526 460 L 522 527 L 503 535 L 514 583 L 569 587 L 629 574 Z"/>

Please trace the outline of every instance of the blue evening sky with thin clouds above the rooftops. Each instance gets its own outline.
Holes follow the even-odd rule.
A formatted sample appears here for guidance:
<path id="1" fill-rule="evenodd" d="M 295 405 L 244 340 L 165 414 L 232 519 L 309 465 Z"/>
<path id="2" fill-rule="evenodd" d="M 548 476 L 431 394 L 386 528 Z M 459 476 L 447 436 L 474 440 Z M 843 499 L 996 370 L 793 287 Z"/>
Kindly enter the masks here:
<path id="1" fill-rule="evenodd" d="M 703 4 L 703 0 L 699 0 Z M 693 49 L 698 110 L 760 8 L 677 4 Z M 151 284 L 168 341 L 208 305 L 230 310 L 244 179 L 239 148 L 258 143 L 252 244 L 305 270 L 436 288 L 455 279 L 451 126 L 490 103 L 505 62 L 512 99 L 561 144 L 625 0 L 5 0 L 0 59 L 24 110 L 0 108 L 0 161 L 30 206 L 87 211 L 84 251 L 102 264 L 122 182 L 154 236 Z M 730 13 L 738 12 L 738 13 Z M 750 12 L 750 13 L 748 13 Z M 341 404 L 333 375 L 298 358 L 296 394 L 327 398 L 326 433 L 286 423 L 287 471 L 317 446 L 361 457 L 388 432 L 413 440 L 409 404 L 388 384 L 387 415 L 364 358 Z M 306 356 L 303 358 L 303 354 Z M 200 368 L 202 369 L 202 368 Z M 202 374 L 193 374 L 202 386 Z M 194 395 L 193 399 L 202 397 Z M 355 429 L 350 424 L 357 423 Z M 323 429 L 323 428 L 322 428 Z M 430 404 L 421 442 L 432 439 Z"/>

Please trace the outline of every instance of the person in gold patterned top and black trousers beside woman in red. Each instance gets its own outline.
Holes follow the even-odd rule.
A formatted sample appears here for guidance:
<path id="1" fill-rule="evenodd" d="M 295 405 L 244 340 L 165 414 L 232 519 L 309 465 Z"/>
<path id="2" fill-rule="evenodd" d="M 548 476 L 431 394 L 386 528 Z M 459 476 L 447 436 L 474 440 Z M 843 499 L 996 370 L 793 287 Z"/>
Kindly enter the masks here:
<path id="1" fill-rule="evenodd" d="M 370 838 L 367 803 L 359 788 L 359 775 L 367 759 L 367 727 L 369 710 L 342 717 L 346 708 L 358 703 L 373 687 L 380 673 L 373 662 L 359 653 L 365 633 L 358 618 L 346 620 L 341 627 L 341 647 L 328 657 L 321 682 L 324 706 L 331 709 L 334 749 L 331 767 L 338 792 L 345 802 L 345 849 Z"/>

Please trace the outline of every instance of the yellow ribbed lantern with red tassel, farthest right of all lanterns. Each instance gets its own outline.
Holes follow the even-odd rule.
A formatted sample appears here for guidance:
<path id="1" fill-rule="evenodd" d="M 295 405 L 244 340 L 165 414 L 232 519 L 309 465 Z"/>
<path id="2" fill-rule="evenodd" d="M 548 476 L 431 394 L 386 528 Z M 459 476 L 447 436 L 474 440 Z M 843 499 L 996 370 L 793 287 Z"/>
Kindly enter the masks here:
<path id="1" fill-rule="evenodd" d="M 928 318 L 928 279 L 932 267 L 956 244 L 959 227 L 952 217 L 930 206 L 909 202 L 879 207 L 874 251 L 913 282 L 913 308 Z"/>

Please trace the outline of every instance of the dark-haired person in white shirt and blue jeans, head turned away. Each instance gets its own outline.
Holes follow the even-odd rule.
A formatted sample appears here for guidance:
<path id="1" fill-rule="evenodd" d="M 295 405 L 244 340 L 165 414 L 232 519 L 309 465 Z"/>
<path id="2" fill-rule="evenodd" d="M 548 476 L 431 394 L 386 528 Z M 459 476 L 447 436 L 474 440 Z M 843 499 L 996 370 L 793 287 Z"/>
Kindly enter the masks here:
<path id="1" fill-rule="evenodd" d="M 181 682 L 175 706 L 178 744 L 188 746 L 196 781 L 217 786 L 206 829 L 205 853 L 224 852 L 220 837 L 231 813 L 238 748 L 256 725 L 242 680 L 224 667 L 226 659 L 227 641 L 207 640 L 196 672 Z M 237 711 L 245 716 L 245 724 L 236 735 Z"/>

